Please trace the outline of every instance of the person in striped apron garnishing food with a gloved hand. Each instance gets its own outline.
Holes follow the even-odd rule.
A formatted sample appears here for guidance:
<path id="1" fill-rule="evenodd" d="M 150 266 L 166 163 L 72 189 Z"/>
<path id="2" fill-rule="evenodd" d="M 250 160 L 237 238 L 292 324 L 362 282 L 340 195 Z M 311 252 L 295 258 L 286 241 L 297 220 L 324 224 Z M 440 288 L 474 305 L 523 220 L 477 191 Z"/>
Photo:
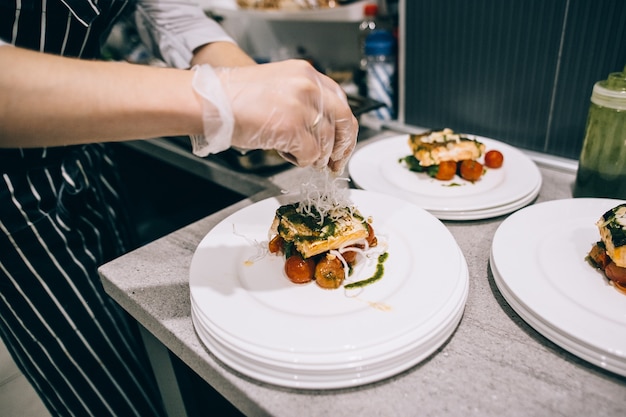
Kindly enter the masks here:
<path id="1" fill-rule="evenodd" d="M 168 68 L 98 60 L 123 16 Z M 345 94 L 304 61 L 256 65 L 192 0 L 2 0 L 0 68 L 0 336 L 55 416 L 164 415 L 97 274 L 133 245 L 107 143 L 188 135 L 340 173 Z"/>

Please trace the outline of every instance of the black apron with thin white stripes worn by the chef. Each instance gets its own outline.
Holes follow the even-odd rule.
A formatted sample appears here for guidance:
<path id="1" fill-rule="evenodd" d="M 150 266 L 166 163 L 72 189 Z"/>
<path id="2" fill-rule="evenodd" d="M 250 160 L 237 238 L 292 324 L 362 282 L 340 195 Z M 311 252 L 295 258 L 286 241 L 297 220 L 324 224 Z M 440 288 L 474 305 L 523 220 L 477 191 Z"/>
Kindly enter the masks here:
<path id="1" fill-rule="evenodd" d="M 126 1 L 0 0 L 0 38 L 81 58 Z M 97 267 L 129 229 L 104 144 L 0 149 L 0 336 L 58 416 L 161 416 L 137 328 Z"/>

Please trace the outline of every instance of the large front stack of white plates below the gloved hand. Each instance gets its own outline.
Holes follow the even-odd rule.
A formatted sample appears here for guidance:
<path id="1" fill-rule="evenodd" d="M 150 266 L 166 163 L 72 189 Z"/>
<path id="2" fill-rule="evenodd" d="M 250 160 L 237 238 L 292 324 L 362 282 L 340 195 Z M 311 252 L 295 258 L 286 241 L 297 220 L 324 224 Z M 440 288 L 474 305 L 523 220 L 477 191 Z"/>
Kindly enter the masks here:
<path id="1" fill-rule="evenodd" d="M 275 385 L 344 388 L 402 372 L 452 335 L 468 293 L 452 235 L 404 200 L 361 190 L 351 199 L 388 253 L 382 278 L 357 292 L 293 284 L 284 258 L 267 253 L 275 211 L 293 196 L 246 207 L 205 236 L 190 269 L 192 320 L 216 358 Z M 361 260 L 350 280 L 376 263 Z"/>

